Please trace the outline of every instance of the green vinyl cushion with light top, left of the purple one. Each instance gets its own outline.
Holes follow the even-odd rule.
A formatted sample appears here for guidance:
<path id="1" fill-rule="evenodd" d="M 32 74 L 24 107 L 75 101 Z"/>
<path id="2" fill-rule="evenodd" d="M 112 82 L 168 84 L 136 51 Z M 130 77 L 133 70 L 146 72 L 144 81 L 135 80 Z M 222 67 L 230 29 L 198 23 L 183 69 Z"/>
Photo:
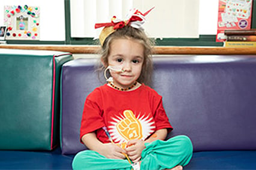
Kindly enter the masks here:
<path id="1" fill-rule="evenodd" d="M 72 54 L 0 49 L 0 149 L 51 150 L 59 142 L 59 76 Z"/>

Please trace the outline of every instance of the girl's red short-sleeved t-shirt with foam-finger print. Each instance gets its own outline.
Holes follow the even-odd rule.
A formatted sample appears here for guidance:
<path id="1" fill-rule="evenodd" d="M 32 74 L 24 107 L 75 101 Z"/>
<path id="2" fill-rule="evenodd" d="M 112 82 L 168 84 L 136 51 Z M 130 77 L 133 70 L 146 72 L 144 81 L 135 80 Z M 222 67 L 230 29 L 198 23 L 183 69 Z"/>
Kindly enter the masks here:
<path id="1" fill-rule="evenodd" d="M 97 87 L 87 96 L 81 122 L 80 139 L 96 132 L 97 138 L 108 143 L 102 129 L 107 127 L 115 143 L 131 139 L 145 140 L 156 130 L 172 130 L 162 104 L 162 96 L 142 84 L 138 89 L 121 92 L 107 84 Z"/>

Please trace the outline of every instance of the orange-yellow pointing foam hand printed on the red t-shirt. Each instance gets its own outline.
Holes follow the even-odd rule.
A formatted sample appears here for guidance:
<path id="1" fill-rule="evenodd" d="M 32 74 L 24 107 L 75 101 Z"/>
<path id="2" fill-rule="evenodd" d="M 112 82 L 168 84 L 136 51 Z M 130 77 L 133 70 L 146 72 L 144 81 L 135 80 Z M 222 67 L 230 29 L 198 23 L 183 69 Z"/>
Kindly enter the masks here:
<path id="1" fill-rule="evenodd" d="M 117 130 L 127 141 L 142 138 L 142 126 L 131 110 L 123 112 L 124 119 L 117 123 Z"/>

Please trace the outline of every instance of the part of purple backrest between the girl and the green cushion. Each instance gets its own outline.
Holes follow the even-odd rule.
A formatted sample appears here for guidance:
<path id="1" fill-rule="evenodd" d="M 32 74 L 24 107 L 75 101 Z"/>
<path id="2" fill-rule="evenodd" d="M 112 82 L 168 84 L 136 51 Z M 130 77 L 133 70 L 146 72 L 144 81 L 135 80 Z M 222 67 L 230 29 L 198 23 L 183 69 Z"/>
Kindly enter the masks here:
<path id="1" fill-rule="evenodd" d="M 76 59 L 62 66 L 61 76 L 61 149 L 62 154 L 84 150 L 79 132 L 85 98 L 101 83 L 94 65 L 97 59 Z"/>

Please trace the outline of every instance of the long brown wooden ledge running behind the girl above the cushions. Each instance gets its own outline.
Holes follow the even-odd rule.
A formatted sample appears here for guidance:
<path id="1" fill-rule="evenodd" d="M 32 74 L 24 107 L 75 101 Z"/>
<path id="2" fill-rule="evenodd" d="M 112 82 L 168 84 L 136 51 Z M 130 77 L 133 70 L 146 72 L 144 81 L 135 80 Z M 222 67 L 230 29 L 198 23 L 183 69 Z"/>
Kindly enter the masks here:
<path id="1" fill-rule="evenodd" d="M 97 45 L 9 45 L 2 44 L 0 48 L 23 50 L 52 50 L 73 54 L 94 54 L 99 50 Z M 155 54 L 256 54 L 256 47 L 178 47 L 156 46 Z"/>

